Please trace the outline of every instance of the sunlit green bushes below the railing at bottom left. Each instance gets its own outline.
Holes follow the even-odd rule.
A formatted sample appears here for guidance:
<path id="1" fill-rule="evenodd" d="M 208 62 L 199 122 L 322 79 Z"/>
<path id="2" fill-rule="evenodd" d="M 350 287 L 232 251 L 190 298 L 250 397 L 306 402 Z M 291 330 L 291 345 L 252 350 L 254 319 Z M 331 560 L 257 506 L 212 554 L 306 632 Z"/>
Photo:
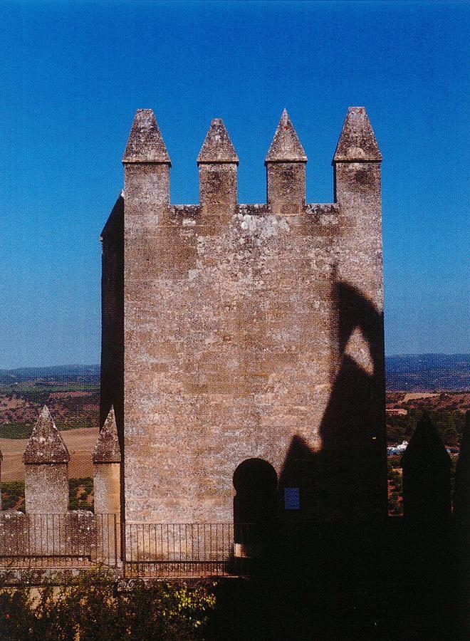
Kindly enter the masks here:
<path id="1" fill-rule="evenodd" d="M 0 588 L 0 639 L 204 639 L 215 585 L 136 580 L 119 590 L 109 575 L 87 573 L 31 592 L 25 581 Z"/>

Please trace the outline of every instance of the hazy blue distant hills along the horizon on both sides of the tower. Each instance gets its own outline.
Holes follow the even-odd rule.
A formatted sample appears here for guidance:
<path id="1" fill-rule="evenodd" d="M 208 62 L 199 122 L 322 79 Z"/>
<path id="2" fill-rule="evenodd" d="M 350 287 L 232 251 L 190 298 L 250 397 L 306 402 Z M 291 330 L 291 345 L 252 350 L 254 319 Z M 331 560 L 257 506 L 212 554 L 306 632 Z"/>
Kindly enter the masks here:
<path id="1" fill-rule="evenodd" d="M 387 390 L 470 390 L 469 354 L 410 354 L 385 358 Z M 100 384 L 99 365 L 56 365 L 0 370 L 0 390 L 91 389 Z"/>

